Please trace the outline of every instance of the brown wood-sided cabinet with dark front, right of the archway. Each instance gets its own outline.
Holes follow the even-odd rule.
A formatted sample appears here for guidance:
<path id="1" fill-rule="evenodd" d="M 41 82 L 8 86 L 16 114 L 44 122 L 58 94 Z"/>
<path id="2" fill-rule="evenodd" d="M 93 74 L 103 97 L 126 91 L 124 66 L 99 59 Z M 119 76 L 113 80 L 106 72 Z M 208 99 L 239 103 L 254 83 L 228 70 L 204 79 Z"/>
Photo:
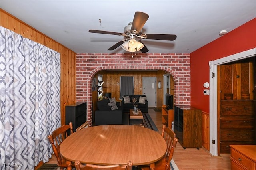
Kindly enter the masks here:
<path id="1" fill-rule="evenodd" d="M 184 149 L 199 149 L 202 146 L 202 111 L 190 106 L 175 106 L 174 132 Z"/>

